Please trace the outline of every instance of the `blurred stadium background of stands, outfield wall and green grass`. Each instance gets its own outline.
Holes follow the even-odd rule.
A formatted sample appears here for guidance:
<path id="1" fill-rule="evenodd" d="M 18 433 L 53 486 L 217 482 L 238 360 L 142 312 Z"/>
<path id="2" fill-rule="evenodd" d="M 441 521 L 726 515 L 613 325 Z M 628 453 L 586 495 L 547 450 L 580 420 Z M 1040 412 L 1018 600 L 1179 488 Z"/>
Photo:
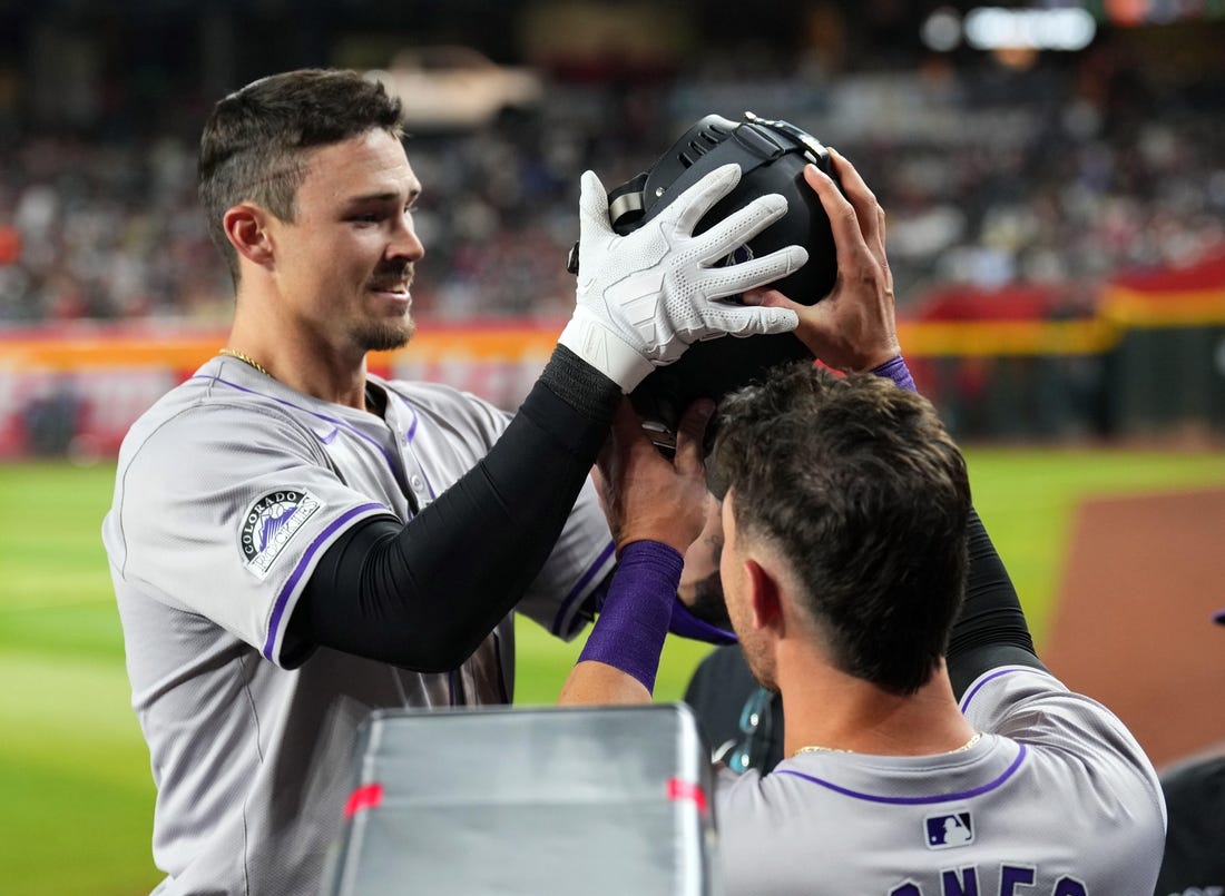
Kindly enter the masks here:
<path id="1" fill-rule="evenodd" d="M 157 880 L 97 531 L 127 425 L 223 344 L 195 203 L 221 95 L 331 65 L 402 92 L 421 327 L 372 366 L 507 408 L 570 312 L 582 170 L 620 184 L 708 113 L 837 147 L 1045 619 L 1078 496 L 1225 485 L 1223 45 L 1225 0 L 0 0 L 0 890 Z M 573 654 L 526 643 L 545 701 Z"/>

